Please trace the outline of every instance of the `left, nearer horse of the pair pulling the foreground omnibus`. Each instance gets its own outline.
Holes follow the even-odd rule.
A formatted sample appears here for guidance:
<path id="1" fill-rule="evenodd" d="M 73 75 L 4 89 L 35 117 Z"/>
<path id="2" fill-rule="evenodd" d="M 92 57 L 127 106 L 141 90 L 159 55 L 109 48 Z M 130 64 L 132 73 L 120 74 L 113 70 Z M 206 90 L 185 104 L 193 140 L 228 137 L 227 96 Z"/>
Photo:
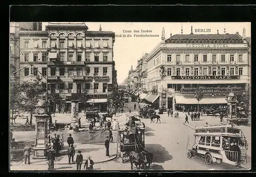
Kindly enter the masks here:
<path id="1" fill-rule="evenodd" d="M 147 161 L 145 159 L 145 155 L 143 155 L 142 152 L 136 153 L 135 151 L 131 151 L 128 156 L 130 157 L 131 170 L 133 170 L 133 164 L 135 164 L 138 170 L 140 170 L 140 165 L 146 166 Z"/>

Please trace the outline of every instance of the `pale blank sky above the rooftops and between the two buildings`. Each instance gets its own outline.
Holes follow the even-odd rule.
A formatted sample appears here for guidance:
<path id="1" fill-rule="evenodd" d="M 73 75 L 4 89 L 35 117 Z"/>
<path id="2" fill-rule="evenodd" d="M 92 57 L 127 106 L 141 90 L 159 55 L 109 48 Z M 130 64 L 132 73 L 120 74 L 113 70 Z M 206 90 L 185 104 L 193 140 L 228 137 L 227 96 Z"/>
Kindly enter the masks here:
<path id="1" fill-rule="evenodd" d="M 181 34 L 181 26 L 183 34 L 190 34 L 191 26 L 193 26 L 194 34 L 234 34 L 239 32 L 242 36 L 243 28 L 246 29 L 246 36 L 251 36 L 250 22 L 85 22 L 89 31 L 98 31 L 101 24 L 102 31 L 113 31 L 115 34 L 131 34 L 132 37 L 116 37 L 114 43 L 114 61 L 116 63 L 117 81 L 122 83 L 128 75 L 128 71 L 137 66 L 137 60 L 144 53 L 150 53 L 152 49 L 161 41 L 162 28 L 165 30 L 165 38 L 172 35 Z M 42 22 L 42 30 L 48 22 Z M 195 29 L 210 29 L 210 33 L 195 33 Z M 131 30 L 132 33 L 123 33 L 123 30 Z M 152 33 L 134 33 L 134 30 L 151 30 Z M 134 34 L 152 34 L 159 37 L 134 37 Z"/>

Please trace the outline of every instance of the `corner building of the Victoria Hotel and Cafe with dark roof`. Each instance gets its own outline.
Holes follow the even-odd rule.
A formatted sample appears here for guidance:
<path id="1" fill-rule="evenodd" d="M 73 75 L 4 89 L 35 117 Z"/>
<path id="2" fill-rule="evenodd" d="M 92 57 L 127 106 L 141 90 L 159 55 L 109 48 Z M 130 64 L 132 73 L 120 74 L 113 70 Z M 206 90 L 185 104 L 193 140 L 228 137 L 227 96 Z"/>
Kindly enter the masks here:
<path id="1" fill-rule="evenodd" d="M 163 32 L 164 33 L 164 32 Z M 160 92 L 160 106 L 226 104 L 230 87 L 248 91 L 248 52 L 245 29 L 236 34 L 177 34 L 162 41 L 148 55 L 147 88 Z M 162 94 L 164 93 L 164 94 Z M 155 95 L 155 97 L 159 97 Z M 163 96 L 162 96 L 163 95 Z M 152 98 L 155 100 L 155 98 Z"/>

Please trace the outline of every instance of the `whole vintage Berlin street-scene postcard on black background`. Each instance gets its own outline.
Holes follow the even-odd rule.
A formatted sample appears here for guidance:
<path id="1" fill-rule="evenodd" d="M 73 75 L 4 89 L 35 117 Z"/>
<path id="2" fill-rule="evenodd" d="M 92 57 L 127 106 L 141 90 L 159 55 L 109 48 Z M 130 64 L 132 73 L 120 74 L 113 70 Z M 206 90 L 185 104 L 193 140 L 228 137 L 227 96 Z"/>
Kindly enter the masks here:
<path id="1" fill-rule="evenodd" d="M 249 170 L 250 22 L 10 22 L 10 170 Z"/>

